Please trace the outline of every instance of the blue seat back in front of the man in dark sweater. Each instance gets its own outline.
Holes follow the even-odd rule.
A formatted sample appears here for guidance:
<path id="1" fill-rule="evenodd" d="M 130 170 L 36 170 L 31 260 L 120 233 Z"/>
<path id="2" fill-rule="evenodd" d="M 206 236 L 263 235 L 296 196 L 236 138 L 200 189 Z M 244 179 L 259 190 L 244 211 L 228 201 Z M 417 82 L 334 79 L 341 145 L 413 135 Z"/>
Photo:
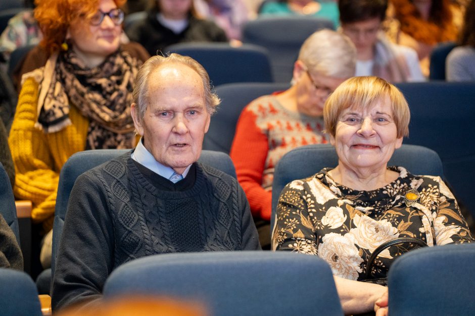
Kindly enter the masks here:
<path id="1" fill-rule="evenodd" d="M 127 294 L 191 299 L 207 305 L 212 315 L 343 314 L 328 264 L 284 251 L 140 258 L 118 267 L 104 286 L 105 299 Z M 306 294 L 311 298 L 304 299 Z"/>

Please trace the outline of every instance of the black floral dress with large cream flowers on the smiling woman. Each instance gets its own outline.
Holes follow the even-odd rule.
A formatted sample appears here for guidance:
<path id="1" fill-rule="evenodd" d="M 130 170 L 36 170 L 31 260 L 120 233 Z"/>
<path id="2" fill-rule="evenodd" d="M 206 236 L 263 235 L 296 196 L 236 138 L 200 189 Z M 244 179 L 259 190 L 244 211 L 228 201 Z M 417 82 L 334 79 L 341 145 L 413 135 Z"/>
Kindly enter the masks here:
<path id="1" fill-rule="evenodd" d="M 277 206 L 273 249 L 317 255 L 334 275 L 362 280 L 367 260 L 385 241 L 413 237 L 429 246 L 474 241 L 440 177 L 389 169 L 399 177 L 374 191 L 336 183 L 329 168 L 287 184 Z M 376 260 L 375 276 L 386 276 L 406 250 L 404 245 L 384 250 Z"/>

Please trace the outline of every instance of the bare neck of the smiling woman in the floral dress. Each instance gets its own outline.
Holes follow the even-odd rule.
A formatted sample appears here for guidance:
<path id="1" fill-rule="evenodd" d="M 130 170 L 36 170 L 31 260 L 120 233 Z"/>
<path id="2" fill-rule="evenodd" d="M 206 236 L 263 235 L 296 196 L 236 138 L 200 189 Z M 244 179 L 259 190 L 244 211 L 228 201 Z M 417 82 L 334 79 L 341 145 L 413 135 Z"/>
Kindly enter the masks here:
<path id="1" fill-rule="evenodd" d="M 386 165 L 376 168 L 351 169 L 341 162 L 328 171 L 335 182 L 356 191 L 373 191 L 396 180 L 399 173 L 388 170 Z"/>

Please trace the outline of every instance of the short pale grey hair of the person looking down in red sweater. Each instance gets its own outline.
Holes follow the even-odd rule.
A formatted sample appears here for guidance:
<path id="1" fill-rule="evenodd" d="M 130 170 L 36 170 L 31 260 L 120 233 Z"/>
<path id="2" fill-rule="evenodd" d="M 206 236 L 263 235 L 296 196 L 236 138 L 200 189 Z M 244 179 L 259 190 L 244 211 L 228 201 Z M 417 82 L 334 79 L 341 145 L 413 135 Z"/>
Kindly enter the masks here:
<path id="1" fill-rule="evenodd" d="M 346 35 L 324 29 L 305 40 L 299 60 L 323 76 L 350 78 L 355 76 L 356 47 Z"/>

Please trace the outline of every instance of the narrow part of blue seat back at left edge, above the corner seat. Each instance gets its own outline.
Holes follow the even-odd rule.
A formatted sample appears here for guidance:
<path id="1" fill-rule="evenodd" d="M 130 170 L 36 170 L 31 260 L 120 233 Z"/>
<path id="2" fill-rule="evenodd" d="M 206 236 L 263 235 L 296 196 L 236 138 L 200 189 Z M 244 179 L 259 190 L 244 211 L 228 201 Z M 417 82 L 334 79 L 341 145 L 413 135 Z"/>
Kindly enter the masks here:
<path id="1" fill-rule="evenodd" d="M 10 178 L 0 163 L 0 214 L 4 217 L 7 224 L 12 229 L 17 242 L 20 244 L 20 233 L 18 230 L 17 208 L 15 206 L 15 197 L 13 196 L 12 184 Z"/>

